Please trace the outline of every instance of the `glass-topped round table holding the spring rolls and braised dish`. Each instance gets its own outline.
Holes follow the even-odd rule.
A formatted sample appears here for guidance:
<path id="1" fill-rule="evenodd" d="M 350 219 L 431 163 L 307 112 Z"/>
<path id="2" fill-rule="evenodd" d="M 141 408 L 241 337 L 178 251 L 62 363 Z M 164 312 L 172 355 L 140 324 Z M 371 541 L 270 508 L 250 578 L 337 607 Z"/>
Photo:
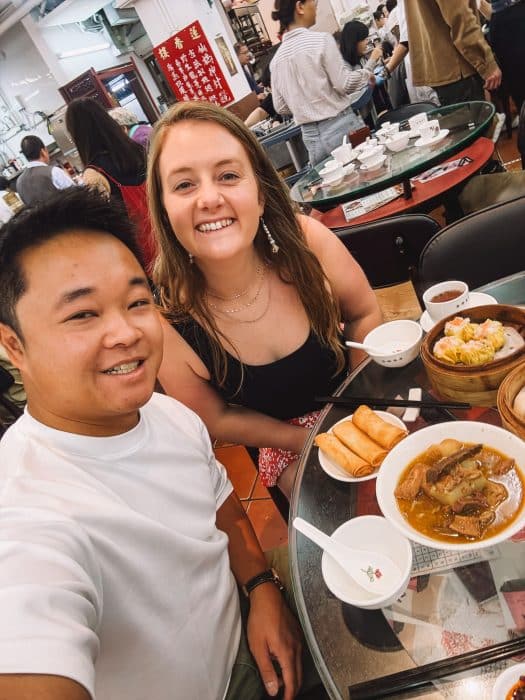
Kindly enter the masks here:
<path id="1" fill-rule="evenodd" d="M 525 271 L 478 291 L 499 303 L 525 305 Z M 327 404 L 309 437 L 290 503 L 290 565 L 298 614 L 333 700 L 491 700 L 496 675 L 512 657 L 525 653 L 525 539 L 461 556 L 413 545 L 416 576 L 409 592 L 390 608 L 369 611 L 330 592 L 321 572 L 321 550 L 293 528 L 300 516 L 331 534 L 353 517 L 381 515 L 375 479 L 333 479 L 322 469 L 313 441 L 352 413 L 352 397 L 369 397 L 373 408 L 374 399 L 408 398 L 411 387 L 419 387 L 423 399 L 438 400 L 419 358 L 402 368 L 366 360 L 337 391 L 348 405 Z M 421 408 L 407 428 L 412 432 L 458 419 L 500 424 L 496 408 L 431 406 Z"/>

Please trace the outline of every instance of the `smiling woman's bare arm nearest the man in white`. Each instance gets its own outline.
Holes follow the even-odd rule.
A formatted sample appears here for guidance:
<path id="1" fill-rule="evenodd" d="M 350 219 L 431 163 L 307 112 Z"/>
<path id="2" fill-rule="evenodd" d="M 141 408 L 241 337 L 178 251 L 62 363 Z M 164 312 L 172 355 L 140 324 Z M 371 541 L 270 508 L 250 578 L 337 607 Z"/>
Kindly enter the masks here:
<path id="1" fill-rule="evenodd" d="M 309 430 L 241 406 L 230 406 L 210 384 L 209 372 L 182 336 L 164 321 L 164 391 L 201 417 L 213 438 L 249 447 L 278 447 L 300 453 Z"/>

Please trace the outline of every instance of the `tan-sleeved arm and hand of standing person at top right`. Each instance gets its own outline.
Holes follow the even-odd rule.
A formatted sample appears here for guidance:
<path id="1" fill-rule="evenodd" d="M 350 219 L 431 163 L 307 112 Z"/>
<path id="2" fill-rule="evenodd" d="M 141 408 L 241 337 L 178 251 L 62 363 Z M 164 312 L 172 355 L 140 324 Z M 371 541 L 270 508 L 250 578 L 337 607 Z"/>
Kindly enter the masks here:
<path id="1" fill-rule="evenodd" d="M 501 83 L 501 70 L 468 0 L 435 2 L 450 27 L 450 37 L 456 49 L 484 78 L 485 88 L 495 90 Z"/>

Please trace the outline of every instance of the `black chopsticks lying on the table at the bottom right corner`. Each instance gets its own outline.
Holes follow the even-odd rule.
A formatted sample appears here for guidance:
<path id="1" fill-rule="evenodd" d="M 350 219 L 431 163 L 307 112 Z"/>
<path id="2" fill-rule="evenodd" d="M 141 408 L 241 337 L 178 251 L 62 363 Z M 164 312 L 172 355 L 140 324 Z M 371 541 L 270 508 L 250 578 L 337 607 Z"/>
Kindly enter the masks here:
<path id="1" fill-rule="evenodd" d="M 428 685 L 438 678 L 444 678 L 456 673 L 463 673 L 478 666 L 495 663 L 508 659 L 516 654 L 523 653 L 525 639 L 520 637 L 508 642 L 501 642 L 491 647 L 484 647 L 458 654 L 451 659 L 433 661 L 419 668 L 411 668 L 406 671 L 392 673 L 372 681 L 356 683 L 349 687 L 352 700 L 376 700 L 396 695 L 404 690 L 415 690 Z"/>

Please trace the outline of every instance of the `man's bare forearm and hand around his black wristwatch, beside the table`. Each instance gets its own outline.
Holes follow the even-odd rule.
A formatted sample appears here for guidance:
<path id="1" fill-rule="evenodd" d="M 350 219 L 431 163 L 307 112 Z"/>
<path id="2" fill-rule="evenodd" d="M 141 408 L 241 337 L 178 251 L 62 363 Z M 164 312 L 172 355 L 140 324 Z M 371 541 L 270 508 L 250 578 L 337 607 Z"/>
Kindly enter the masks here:
<path id="1" fill-rule="evenodd" d="M 217 511 L 217 527 L 228 535 L 230 566 L 239 585 L 268 568 L 252 525 L 235 493 L 231 493 Z M 247 636 L 267 693 L 274 696 L 279 689 L 272 664 L 272 659 L 275 659 L 282 671 L 284 700 L 292 700 L 301 685 L 301 633 L 281 592 L 272 582 L 263 583 L 250 593 Z"/>

